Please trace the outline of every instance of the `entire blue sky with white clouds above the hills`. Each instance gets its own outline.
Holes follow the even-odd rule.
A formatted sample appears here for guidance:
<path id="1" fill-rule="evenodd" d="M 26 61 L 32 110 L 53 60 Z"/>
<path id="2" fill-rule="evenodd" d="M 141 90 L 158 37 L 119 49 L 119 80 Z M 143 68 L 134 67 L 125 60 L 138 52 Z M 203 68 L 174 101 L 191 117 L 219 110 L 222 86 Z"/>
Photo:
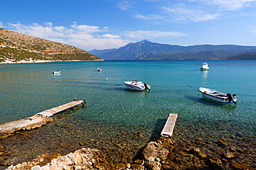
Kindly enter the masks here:
<path id="1" fill-rule="evenodd" d="M 256 0 L 0 0 L 0 28 L 90 51 L 147 39 L 256 45 Z"/>

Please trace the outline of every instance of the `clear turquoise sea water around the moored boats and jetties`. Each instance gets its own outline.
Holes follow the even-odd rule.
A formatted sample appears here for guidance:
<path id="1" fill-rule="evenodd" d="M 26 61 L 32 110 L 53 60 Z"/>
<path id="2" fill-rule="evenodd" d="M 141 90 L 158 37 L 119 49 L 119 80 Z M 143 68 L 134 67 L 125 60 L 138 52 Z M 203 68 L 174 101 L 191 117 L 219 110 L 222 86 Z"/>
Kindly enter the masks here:
<path id="1" fill-rule="evenodd" d="M 204 62 L 210 70 L 200 70 Z M 185 133 L 190 138 L 200 135 L 207 139 L 212 134 L 228 138 L 237 133 L 255 138 L 256 61 L 80 61 L 1 66 L 0 123 L 33 116 L 75 97 L 86 100 L 86 108 L 71 111 L 48 128 L 37 130 L 41 133 L 37 143 L 44 139 L 44 133 L 62 140 L 68 128 L 80 133 L 68 139 L 71 143 L 88 137 L 86 133 L 102 142 L 113 134 L 125 138 L 136 129 L 144 136 L 139 148 L 161 132 L 170 112 L 179 114 L 174 129 L 177 138 L 182 138 L 183 129 L 188 130 Z M 96 71 L 98 67 L 102 72 Z M 53 75 L 55 70 L 61 70 L 61 74 Z M 151 85 L 151 91 L 127 89 L 124 81 L 135 78 Z M 237 105 L 202 98 L 199 87 L 237 94 Z M 194 129 L 190 131 L 191 126 Z M 97 147 L 96 142 L 93 144 Z M 19 149 L 26 145 L 20 144 Z M 17 152 L 13 151 L 13 157 Z"/>

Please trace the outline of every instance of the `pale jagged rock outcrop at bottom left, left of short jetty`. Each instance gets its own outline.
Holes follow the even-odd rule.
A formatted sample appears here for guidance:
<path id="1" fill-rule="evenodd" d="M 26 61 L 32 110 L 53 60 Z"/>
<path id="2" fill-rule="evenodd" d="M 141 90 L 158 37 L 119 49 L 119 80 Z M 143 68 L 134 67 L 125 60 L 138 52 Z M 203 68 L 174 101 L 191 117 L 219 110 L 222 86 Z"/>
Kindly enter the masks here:
<path id="1" fill-rule="evenodd" d="M 57 153 L 53 156 L 39 156 L 31 162 L 23 162 L 16 166 L 8 167 L 8 170 L 73 170 L 73 169 L 114 169 L 104 154 L 98 149 L 79 149 L 66 156 Z"/>

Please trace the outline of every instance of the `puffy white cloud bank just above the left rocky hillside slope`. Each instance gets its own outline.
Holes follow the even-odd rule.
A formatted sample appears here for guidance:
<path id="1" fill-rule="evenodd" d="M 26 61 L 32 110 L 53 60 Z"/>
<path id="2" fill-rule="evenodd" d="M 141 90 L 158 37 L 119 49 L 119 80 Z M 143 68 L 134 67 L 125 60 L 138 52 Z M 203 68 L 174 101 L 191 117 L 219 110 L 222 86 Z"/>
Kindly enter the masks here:
<path id="1" fill-rule="evenodd" d="M 0 23 L 0 25 L 3 25 Z M 73 23 L 68 27 L 54 26 L 53 23 L 33 23 L 23 25 L 21 23 L 8 23 L 5 28 L 36 36 L 42 39 L 48 39 L 75 47 L 80 47 L 86 51 L 97 49 L 107 49 L 121 47 L 129 41 L 121 39 L 121 36 L 106 34 L 108 27 L 100 28 L 93 25 L 77 25 Z"/>

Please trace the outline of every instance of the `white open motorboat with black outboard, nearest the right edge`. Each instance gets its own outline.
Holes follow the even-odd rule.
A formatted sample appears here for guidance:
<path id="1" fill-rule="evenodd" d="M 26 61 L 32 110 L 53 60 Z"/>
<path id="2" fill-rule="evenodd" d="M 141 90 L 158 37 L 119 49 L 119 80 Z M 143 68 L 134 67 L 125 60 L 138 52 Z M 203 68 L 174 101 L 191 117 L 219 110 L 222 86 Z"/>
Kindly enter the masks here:
<path id="1" fill-rule="evenodd" d="M 205 98 L 210 98 L 221 103 L 235 103 L 235 105 L 237 104 L 236 94 L 233 94 L 231 96 L 231 94 L 224 94 L 221 92 L 217 92 L 217 90 L 208 89 L 204 87 L 200 87 L 199 92 L 201 92 L 203 96 L 205 96 Z"/>

